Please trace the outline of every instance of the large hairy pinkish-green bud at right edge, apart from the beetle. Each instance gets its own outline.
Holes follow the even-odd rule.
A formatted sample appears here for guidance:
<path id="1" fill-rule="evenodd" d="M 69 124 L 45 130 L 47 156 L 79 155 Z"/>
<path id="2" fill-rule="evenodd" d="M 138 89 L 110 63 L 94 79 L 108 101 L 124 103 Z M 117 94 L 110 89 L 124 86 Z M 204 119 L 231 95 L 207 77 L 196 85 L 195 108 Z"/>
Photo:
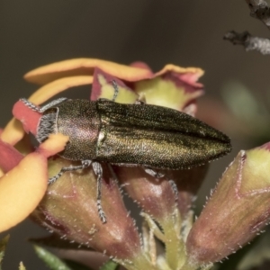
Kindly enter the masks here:
<path id="1" fill-rule="evenodd" d="M 216 262 L 266 226 L 270 217 L 270 143 L 239 152 L 187 238 L 193 265 Z"/>

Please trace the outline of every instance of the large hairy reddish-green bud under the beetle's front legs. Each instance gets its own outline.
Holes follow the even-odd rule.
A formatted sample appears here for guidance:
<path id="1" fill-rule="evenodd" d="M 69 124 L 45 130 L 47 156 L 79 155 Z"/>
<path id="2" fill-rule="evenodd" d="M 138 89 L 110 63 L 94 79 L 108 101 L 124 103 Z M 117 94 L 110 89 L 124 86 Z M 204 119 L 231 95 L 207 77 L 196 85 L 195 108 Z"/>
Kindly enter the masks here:
<path id="1" fill-rule="evenodd" d="M 58 158 L 50 166 L 56 174 L 68 161 Z M 96 176 L 92 169 L 65 173 L 49 189 L 32 216 L 42 226 L 78 245 L 92 247 L 108 256 L 130 259 L 140 252 L 139 233 L 126 211 L 118 186 L 103 166 L 102 206 L 107 222 L 102 223 L 96 205 Z"/>

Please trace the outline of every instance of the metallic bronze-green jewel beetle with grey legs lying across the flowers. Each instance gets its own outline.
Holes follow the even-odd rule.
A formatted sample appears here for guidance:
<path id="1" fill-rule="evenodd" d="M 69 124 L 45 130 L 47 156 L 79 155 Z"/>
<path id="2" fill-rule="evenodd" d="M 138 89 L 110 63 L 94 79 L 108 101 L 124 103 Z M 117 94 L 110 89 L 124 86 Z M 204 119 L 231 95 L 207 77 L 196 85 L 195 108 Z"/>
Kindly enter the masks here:
<path id="1" fill-rule="evenodd" d="M 49 184 L 67 171 L 92 165 L 97 175 L 97 208 L 101 206 L 102 166 L 143 166 L 150 175 L 155 169 L 184 169 L 203 165 L 231 149 L 229 137 L 206 123 L 166 107 L 146 103 L 124 104 L 99 99 L 60 98 L 42 107 L 22 99 L 33 111 L 42 113 L 36 139 L 51 133 L 69 137 L 60 157 L 80 161 L 63 167 Z"/>

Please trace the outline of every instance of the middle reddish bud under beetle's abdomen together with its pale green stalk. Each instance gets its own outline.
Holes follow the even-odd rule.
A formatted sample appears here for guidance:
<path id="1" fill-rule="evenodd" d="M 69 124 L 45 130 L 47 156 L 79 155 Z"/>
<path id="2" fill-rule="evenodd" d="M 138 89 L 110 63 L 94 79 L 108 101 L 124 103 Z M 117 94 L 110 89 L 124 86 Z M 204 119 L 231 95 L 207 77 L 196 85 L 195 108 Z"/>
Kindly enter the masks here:
<path id="1" fill-rule="evenodd" d="M 172 269 L 178 269 L 185 263 L 184 239 L 186 235 L 185 229 L 181 228 L 183 220 L 187 221 L 185 225 L 189 224 L 187 212 L 194 193 L 202 183 L 206 169 L 207 166 L 192 170 L 166 170 L 162 171 L 165 176 L 157 179 L 148 175 L 141 167 L 114 167 L 125 190 L 145 212 L 142 215 L 147 220 L 150 231 L 153 231 L 156 237 L 164 242 L 166 262 Z M 162 230 L 157 228 L 155 221 Z M 150 241 L 144 234 L 142 236 L 145 243 Z M 177 260 L 175 260 L 176 257 Z"/>

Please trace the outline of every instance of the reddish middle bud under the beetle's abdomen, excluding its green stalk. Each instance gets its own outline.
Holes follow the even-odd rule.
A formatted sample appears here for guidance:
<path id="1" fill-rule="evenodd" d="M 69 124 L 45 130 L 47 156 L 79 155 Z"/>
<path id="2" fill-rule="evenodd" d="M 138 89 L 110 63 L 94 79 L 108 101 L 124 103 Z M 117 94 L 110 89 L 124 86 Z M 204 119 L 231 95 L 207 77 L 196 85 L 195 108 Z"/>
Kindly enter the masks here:
<path id="1" fill-rule="evenodd" d="M 183 170 L 158 170 L 164 177 L 157 179 L 141 167 L 114 167 L 130 197 L 138 202 L 143 211 L 159 221 L 172 215 L 175 207 L 184 218 L 207 169 L 208 165 Z"/>

